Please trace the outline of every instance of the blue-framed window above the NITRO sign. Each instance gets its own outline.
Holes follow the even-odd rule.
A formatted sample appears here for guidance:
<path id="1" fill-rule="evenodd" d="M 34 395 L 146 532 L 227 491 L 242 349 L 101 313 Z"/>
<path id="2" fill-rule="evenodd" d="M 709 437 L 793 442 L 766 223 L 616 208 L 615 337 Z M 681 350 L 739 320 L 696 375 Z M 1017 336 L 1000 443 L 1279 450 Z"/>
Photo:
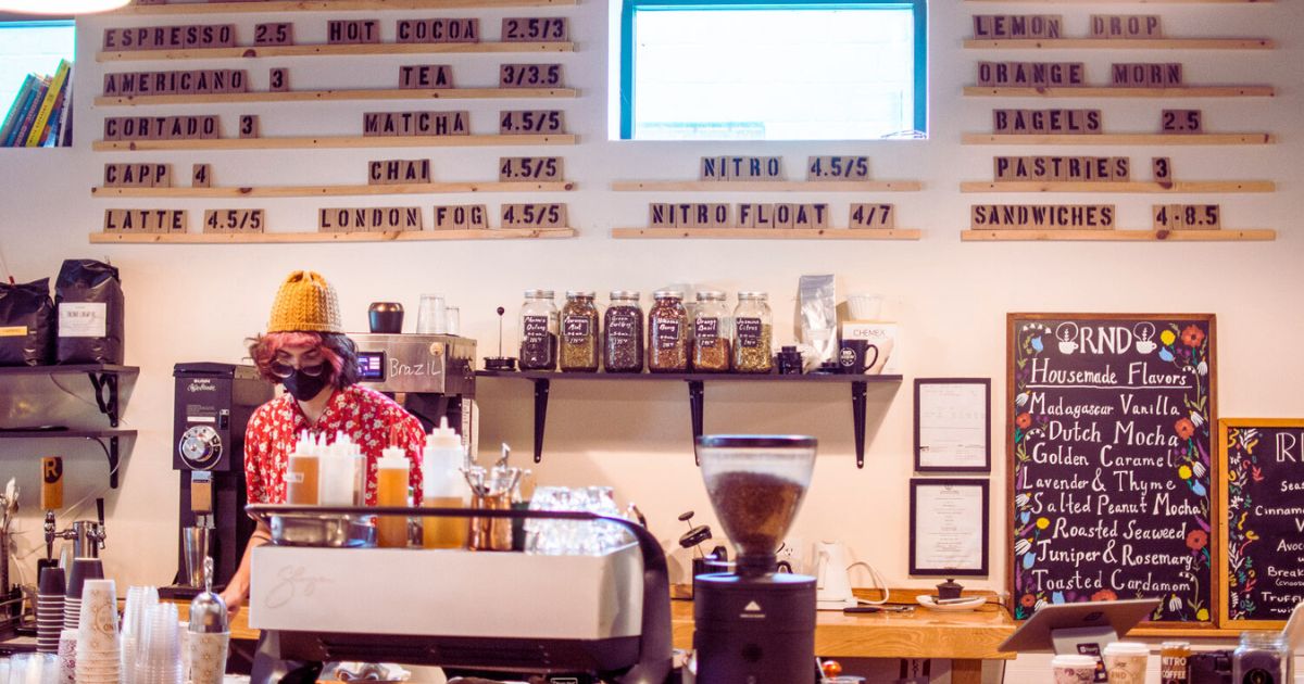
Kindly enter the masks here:
<path id="1" fill-rule="evenodd" d="M 621 139 L 925 135 L 925 0 L 623 1 Z"/>

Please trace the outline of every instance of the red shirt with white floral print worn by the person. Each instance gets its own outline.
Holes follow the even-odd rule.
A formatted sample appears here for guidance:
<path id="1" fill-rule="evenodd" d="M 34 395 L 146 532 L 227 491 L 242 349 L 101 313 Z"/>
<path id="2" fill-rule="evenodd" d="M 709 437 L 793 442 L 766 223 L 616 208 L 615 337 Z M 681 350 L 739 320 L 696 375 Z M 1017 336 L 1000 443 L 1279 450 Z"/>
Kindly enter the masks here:
<path id="1" fill-rule="evenodd" d="M 366 504 L 376 506 L 376 461 L 381 449 L 390 446 L 391 426 L 398 425 L 396 447 L 411 461 L 408 483 L 416 504 L 421 503 L 421 447 L 425 433 L 421 423 L 393 399 L 356 384 L 335 392 L 317 425 L 288 393 L 258 406 L 245 430 L 245 487 L 249 503 L 286 503 L 286 466 L 299 434 L 325 434 L 327 443 L 343 431 L 363 447 L 366 460 Z"/>

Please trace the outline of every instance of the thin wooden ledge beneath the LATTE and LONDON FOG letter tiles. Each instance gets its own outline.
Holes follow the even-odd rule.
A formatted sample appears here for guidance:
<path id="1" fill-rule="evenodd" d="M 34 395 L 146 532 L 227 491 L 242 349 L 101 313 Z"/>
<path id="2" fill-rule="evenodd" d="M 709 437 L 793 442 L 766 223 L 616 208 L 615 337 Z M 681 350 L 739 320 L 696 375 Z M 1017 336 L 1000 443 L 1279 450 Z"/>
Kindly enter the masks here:
<path id="1" fill-rule="evenodd" d="M 535 240 L 575 237 L 574 228 L 482 231 L 385 231 L 374 233 L 91 233 L 93 245 L 282 245 L 291 242 L 425 242 L 437 240 Z"/>

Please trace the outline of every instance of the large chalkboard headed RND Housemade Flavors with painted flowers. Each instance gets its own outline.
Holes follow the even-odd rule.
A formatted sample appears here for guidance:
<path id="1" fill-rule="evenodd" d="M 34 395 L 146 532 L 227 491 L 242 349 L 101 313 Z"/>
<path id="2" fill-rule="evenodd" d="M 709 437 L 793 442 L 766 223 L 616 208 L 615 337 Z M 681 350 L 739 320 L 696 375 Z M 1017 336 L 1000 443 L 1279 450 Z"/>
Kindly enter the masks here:
<path id="1" fill-rule="evenodd" d="M 1211 627 L 1214 317 L 1009 314 L 1013 615 L 1159 598 Z"/>

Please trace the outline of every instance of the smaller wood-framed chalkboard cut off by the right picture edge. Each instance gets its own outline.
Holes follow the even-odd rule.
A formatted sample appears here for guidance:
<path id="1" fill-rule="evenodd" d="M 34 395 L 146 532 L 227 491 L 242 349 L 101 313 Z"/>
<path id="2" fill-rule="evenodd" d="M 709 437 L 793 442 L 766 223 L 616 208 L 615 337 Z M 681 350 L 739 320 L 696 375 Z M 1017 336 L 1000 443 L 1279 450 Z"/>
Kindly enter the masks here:
<path id="1" fill-rule="evenodd" d="M 1304 420 L 1224 418 L 1218 436 L 1221 621 L 1278 628 L 1304 601 Z"/>

